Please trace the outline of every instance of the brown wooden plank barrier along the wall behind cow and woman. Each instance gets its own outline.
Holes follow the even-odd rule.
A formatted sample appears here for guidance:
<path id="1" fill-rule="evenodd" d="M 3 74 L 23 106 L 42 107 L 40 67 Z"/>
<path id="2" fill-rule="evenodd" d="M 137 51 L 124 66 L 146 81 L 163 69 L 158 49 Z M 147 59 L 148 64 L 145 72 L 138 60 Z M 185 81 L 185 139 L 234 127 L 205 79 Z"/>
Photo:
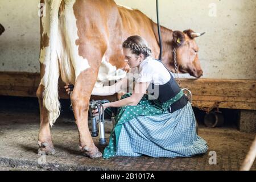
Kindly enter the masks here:
<path id="1" fill-rule="evenodd" d="M 40 83 L 39 73 L 0 72 L 0 95 L 36 97 Z M 213 80 L 181 79 L 181 86 L 193 94 L 193 106 L 256 110 L 256 80 Z M 67 99 L 64 83 L 59 82 L 60 98 Z M 108 99 L 115 101 L 116 95 L 108 97 L 92 96 L 94 100 Z"/>

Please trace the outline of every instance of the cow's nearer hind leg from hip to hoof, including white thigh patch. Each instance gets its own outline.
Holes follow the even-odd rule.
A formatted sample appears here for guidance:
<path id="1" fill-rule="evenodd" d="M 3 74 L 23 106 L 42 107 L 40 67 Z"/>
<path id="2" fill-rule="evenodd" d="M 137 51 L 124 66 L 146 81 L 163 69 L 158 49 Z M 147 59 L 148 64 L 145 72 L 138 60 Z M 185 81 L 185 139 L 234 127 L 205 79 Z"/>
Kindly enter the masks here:
<path id="1" fill-rule="evenodd" d="M 80 148 L 90 158 L 101 157 L 94 145 L 88 127 L 89 100 L 97 81 L 102 57 L 107 49 L 108 25 L 102 22 L 101 14 L 92 14 L 91 9 L 99 6 L 96 1 L 65 2 L 64 21 L 66 43 L 75 70 L 75 88 L 71 94 L 73 112 L 79 130 Z M 92 6 L 91 6 L 92 5 Z M 100 22 L 97 22 L 100 20 Z M 77 30 L 76 30 L 77 29 Z M 78 39 L 77 39 L 78 38 Z"/>

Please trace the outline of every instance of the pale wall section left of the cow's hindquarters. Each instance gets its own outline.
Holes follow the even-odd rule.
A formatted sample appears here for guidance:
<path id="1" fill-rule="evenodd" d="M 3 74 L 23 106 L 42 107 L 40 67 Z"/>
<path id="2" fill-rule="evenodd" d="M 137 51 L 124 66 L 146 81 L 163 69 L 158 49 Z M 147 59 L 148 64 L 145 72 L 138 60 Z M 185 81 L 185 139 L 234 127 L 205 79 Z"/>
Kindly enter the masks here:
<path id="1" fill-rule="evenodd" d="M 39 72 L 38 0 L 0 0 L 0 71 Z"/>

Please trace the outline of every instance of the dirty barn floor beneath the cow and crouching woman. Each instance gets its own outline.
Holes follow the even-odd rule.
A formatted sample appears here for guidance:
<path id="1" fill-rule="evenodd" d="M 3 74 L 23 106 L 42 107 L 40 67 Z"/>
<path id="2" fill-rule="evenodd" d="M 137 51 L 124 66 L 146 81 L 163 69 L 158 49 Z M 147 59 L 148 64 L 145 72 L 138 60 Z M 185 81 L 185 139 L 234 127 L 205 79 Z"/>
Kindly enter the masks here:
<path id="1" fill-rule="evenodd" d="M 46 164 L 39 165 L 38 161 L 42 162 L 43 158 L 38 156 L 36 145 L 38 111 L 30 107 L 0 108 L 0 170 L 238 170 L 255 137 L 255 134 L 241 133 L 232 126 L 208 129 L 201 125 L 199 135 L 209 146 L 205 155 L 175 159 L 147 156 L 89 159 L 78 149 L 78 133 L 72 116 L 64 113 L 52 129 L 56 154 L 46 156 Z M 109 133 L 112 124 L 107 125 Z M 94 142 L 98 146 L 97 138 Z M 104 150 L 104 147 L 99 148 Z M 209 164 L 210 151 L 217 153 L 216 165 Z M 252 170 L 256 170 L 256 162 Z"/>

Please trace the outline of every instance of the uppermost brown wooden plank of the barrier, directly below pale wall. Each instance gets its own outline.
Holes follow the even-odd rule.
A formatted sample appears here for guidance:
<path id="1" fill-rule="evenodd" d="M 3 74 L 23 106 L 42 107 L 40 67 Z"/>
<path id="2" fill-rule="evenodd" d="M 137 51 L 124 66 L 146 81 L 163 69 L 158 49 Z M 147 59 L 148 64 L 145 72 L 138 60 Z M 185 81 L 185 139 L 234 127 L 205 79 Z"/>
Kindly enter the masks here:
<path id="1" fill-rule="evenodd" d="M 0 72 L 0 85 L 38 86 L 39 73 Z M 181 86 L 189 88 L 194 95 L 255 97 L 255 80 L 212 80 L 212 79 L 181 79 Z"/>

